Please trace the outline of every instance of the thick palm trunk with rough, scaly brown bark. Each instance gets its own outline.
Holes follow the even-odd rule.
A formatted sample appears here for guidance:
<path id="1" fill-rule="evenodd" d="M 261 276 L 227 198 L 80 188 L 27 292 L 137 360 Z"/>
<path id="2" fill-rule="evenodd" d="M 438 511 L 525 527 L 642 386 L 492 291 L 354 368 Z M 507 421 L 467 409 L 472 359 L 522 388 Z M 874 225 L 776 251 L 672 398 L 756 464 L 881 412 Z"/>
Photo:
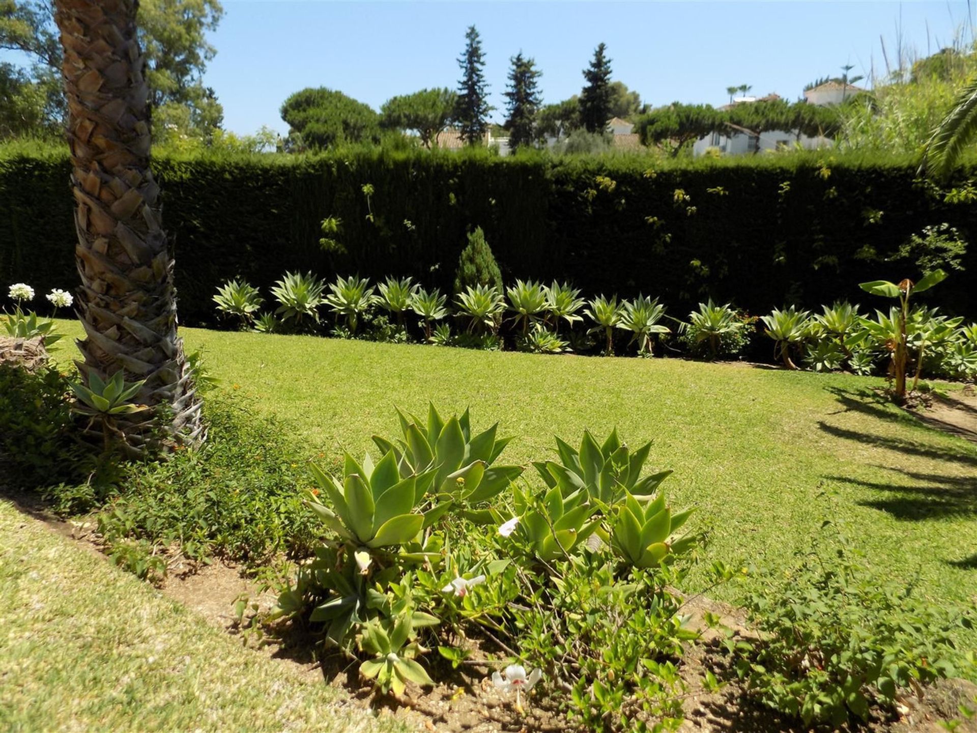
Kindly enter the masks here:
<path id="1" fill-rule="evenodd" d="M 81 276 L 76 303 L 86 383 L 120 369 L 146 380 L 137 401 L 149 424 L 123 427 L 128 453 L 145 453 L 153 427 L 167 446 L 201 435 L 200 402 L 177 336 L 173 258 L 149 170 L 148 87 L 136 37 L 138 0 L 57 0 L 64 47 L 71 192 Z M 152 422 L 156 422 L 155 426 Z"/>

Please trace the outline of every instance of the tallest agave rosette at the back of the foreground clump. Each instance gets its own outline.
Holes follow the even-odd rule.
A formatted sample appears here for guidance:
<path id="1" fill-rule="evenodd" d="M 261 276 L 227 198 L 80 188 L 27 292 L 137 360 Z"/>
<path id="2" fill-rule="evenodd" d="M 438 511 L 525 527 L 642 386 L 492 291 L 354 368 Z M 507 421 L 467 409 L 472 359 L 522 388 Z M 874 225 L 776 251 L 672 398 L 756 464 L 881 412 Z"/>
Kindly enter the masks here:
<path id="1" fill-rule="evenodd" d="M 394 456 L 402 476 L 426 476 L 433 471 L 428 486 L 440 504 L 450 502 L 468 511 L 497 496 L 523 473 L 522 466 L 492 465 L 511 440 L 495 437 L 497 422 L 473 436 L 468 410 L 447 420 L 434 405 L 428 407 L 427 420 L 397 412 L 404 440 L 395 444 L 374 435 L 373 442 L 385 456 Z M 468 515 L 489 521 L 484 513 L 468 511 Z"/>

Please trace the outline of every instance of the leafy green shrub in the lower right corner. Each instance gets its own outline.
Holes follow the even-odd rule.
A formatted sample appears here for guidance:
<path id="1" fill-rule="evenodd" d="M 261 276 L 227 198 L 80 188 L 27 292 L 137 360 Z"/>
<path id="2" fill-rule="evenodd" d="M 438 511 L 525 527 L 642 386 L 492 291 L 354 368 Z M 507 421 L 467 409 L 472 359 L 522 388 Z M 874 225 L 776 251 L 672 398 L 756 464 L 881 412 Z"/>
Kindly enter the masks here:
<path id="1" fill-rule="evenodd" d="M 876 705 L 955 676 L 969 664 L 956 629 L 973 609 L 936 605 L 913 581 L 890 581 L 832 525 L 786 569 L 761 576 L 746 597 L 760 640 L 731 643 L 752 694 L 805 725 L 868 720 Z"/>

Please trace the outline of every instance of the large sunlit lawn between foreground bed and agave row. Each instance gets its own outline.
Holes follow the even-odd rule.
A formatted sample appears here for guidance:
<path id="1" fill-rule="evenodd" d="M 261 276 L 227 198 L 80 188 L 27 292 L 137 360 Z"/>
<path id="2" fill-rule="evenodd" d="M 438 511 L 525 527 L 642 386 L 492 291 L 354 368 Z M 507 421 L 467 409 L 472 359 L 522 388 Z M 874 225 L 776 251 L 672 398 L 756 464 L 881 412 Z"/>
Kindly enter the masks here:
<path id="1" fill-rule="evenodd" d="M 674 469 L 664 486 L 674 506 L 697 508 L 707 558 L 776 564 L 830 519 L 877 568 L 918 575 L 922 592 L 977 594 L 977 445 L 879 402 L 881 379 L 183 333 L 226 389 L 291 420 L 311 455 L 372 448 L 371 434 L 398 432 L 395 405 L 422 411 L 429 400 L 470 406 L 476 426 L 500 421 L 500 433 L 515 436 L 506 462 L 549 457 L 554 434 L 574 443 L 585 427 L 603 435 L 616 426 L 631 445 L 654 440 L 649 464 Z M 742 590 L 719 595 L 735 600 Z"/>

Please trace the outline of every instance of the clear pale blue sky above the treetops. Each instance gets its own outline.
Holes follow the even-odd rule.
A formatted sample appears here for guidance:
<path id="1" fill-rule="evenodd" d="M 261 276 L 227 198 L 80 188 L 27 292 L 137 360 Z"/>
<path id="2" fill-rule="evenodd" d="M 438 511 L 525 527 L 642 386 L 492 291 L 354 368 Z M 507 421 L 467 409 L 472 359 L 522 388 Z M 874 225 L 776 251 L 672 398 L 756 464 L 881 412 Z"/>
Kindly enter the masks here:
<path id="1" fill-rule="evenodd" d="M 336 2 L 225 0 L 205 81 L 237 133 L 286 126 L 278 107 L 306 86 L 339 89 L 373 108 L 424 87 L 454 87 L 466 27 L 487 54 L 491 103 L 509 58 L 522 50 L 542 69 L 546 102 L 579 91 L 594 47 L 608 45 L 614 78 L 653 105 L 723 104 L 725 88 L 796 99 L 816 77 L 884 69 L 879 36 L 895 61 L 903 46 L 925 55 L 968 23 L 965 2 Z M 901 19 L 901 20 L 900 20 Z M 928 40 L 927 40 L 928 26 Z M 969 37 L 969 32 L 968 32 Z M 501 111 L 494 116 L 501 120 Z"/>

